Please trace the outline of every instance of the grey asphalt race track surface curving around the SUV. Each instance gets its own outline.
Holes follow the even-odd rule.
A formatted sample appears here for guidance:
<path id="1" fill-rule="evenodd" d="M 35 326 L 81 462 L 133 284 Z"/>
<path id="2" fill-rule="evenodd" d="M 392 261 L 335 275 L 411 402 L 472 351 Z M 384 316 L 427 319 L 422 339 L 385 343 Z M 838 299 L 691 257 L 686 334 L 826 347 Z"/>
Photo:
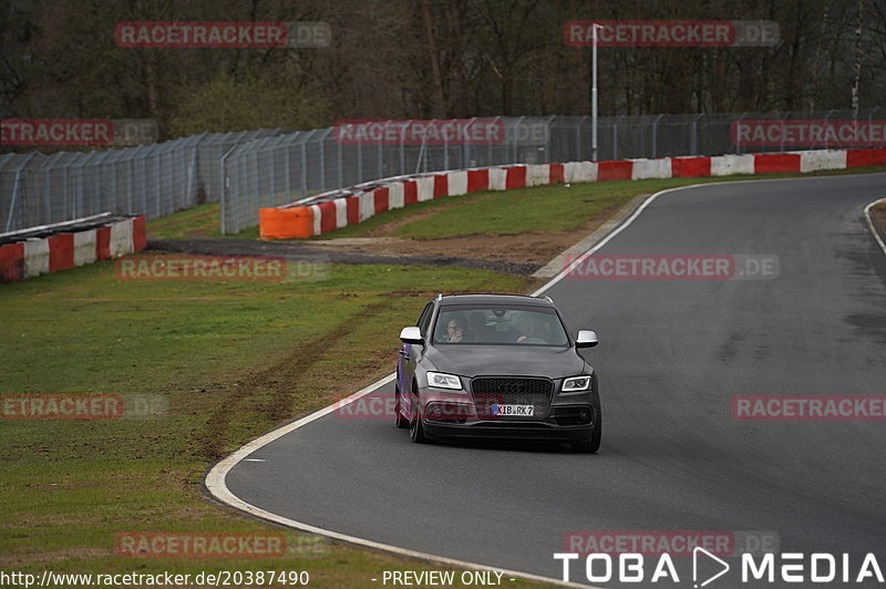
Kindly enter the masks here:
<path id="1" fill-rule="evenodd" d="M 731 409 L 734 395 L 886 393 L 886 256 L 862 215 L 882 197 L 884 174 L 666 193 L 599 254 L 774 255 L 779 276 L 548 289 L 573 332 L 600 338 L 587 352 L 598 455 L 419 445 L 391 420 L 332 413 L 257 450 L 265 462 L 237 464 L 227 486 L 300 523 L 554 579 L 574 530 L 770 530 L 782 552 L 884 565 L 886 422 L 736 421 Z M 587 582 L 580 562 L 570 578 Z M 722 580 L 711 586 L 739 585 Z"/>

